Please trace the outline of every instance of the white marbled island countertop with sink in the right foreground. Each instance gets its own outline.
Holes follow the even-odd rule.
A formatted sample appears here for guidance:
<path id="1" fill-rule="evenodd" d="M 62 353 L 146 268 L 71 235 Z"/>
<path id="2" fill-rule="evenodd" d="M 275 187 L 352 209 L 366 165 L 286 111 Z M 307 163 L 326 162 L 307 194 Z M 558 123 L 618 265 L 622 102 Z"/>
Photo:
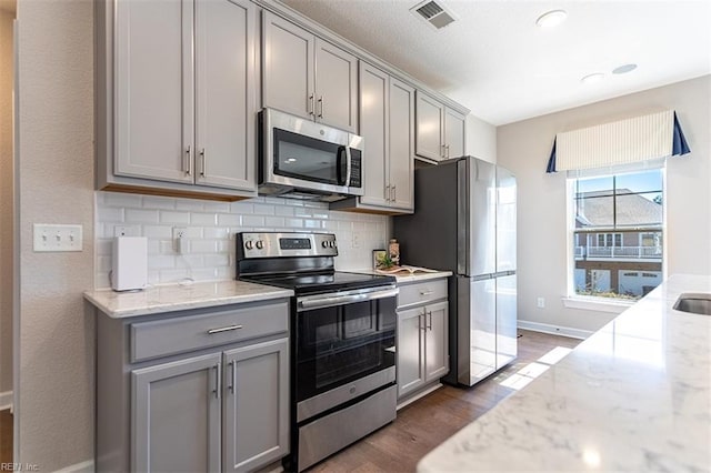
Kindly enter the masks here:
<path id="1" fill-rule="evenodd" d="M 418 464 L 443 471 L 709 471 L 711 315 L 674 275 Z"/>

